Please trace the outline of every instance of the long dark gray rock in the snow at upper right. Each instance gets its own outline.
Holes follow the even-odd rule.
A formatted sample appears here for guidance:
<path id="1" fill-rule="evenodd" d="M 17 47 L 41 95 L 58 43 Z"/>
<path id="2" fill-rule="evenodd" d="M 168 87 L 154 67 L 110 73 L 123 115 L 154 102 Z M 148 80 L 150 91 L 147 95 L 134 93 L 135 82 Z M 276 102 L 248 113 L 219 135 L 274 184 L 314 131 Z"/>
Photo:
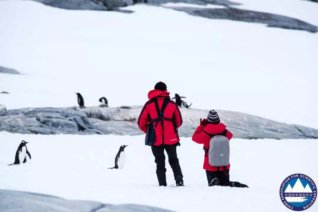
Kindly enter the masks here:
<path id="1" fill-rule="evenodd" d="M 265 12 L 251 10 L 241 10 L 236 8 L 194 8 L 194 7 L 168 7 L 174 10 L 184 11 L 193 16 L 200 16 L 213 19 L 229 19 L 235 21 L 245 21 L 267 24 L 268 27 L 279 27 L 284 29 L 304 30 L 317 32 L 315 25 L 308 24 L 304 21 L 275 15 Z"/>

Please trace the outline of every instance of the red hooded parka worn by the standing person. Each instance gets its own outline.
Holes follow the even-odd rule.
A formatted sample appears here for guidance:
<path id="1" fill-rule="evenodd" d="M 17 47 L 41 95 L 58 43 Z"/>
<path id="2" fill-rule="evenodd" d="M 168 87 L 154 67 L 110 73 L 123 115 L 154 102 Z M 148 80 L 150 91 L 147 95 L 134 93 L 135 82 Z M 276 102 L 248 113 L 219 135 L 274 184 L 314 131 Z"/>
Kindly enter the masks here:
<path id="1" fill-rule="evenodd" d="M 160 90 L 149 91 L 148 98 L 150 100 L 146 102 L 145 106 L 143 106 L 139 119 L 138 119 L 139 128 L 144 133 L 147 133 L 147 127 L 148 127 L 149 121 L 158 118 L 158 114 L 156 111 L 156 106 L 155 106 L 155 102 L 153 98 L 157 99 L 160 110 L 162 108 L 164 98 L 166 97 L 169 98 L 168 105 L 163 112 L 163 118 L 168 118 L 168 119 L 160 120 L 155 129 L 155 132 L 156 132 L 156 142 L 154 143 L 155 146 L 158 146 L 161 144 L 175 144 L 180 140 L 177 129 L 182 125 L 182 117 L 176 103 L 170 100 L 169 94 L 170 93 L 167 91 L 160 91 Z M 163 122 L 163 133 L 162 133 L 161 122 Z M 156 122 L 151 124 L 155 126 Z"/>

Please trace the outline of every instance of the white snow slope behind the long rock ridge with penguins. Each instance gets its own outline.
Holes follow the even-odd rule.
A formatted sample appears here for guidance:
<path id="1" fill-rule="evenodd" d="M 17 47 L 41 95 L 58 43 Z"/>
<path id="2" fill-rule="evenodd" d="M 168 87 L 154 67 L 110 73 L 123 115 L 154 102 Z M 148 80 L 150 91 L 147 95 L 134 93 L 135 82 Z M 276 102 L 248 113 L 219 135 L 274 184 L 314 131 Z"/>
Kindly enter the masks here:
<path id="1" fill-rule="evenodd" d="M 318 24 L 315 3 L 238 2 Z M 0 92 L 10 92 L 0 104 L 73 106 L 80 92 L 86 106 L 102 96 L 110 106 L 142 105 L 164 81 L 194 108 L 318 128 L 317 34 L 140 4 L 124 9 L 135 12 L 0 1 L 0 65 L 24 74 L 0 74 Z"/>

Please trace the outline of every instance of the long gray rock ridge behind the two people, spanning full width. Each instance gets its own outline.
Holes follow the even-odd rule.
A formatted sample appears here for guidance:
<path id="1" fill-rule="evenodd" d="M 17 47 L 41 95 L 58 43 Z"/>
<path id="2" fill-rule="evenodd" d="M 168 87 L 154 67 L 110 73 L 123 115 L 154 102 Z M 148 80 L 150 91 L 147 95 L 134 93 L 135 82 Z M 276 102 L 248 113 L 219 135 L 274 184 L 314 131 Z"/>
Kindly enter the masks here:
<path id="1" fill-rule="evenodd" d="M 24 108 L 0 113 L 0 130 L 12 133 L 35 134 L 115 134 L 140 135 L 137 126 L 142 106 Z M 179 135 L 191 137 L 199 119 L 208 111 L 180 108 L 183 124 Z M 280 123 L 257 116 L 218 110 L 220 118 L 235 138 L 288 139 L 318 138 L 318 130 Z"/>

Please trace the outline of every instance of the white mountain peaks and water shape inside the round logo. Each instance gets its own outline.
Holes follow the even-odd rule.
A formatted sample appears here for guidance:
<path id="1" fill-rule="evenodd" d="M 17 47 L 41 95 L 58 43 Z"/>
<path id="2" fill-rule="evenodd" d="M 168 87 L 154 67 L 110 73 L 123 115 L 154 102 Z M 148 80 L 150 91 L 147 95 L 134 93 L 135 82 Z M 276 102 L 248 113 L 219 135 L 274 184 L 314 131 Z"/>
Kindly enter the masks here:
<path id="1" fill-rule="evenodd" d="M 285 189 L 284 193 L 295 193 L 295 194 L 301 194 L 301 193 L 313 193 L 313 191 L 311 190 L 310 186 L 306 185 L 306 187 L 304 188 L 304 186 L 302 185 L 300 179 L 298 178 L 294 187 L 292 188 L 290 186 L 290 184 L 288 184 L 287 188 Z M 286 197 L 286 201 L 287 202 L 305 202 L 308 199 L 305 196 L 288 196 Z"/>

